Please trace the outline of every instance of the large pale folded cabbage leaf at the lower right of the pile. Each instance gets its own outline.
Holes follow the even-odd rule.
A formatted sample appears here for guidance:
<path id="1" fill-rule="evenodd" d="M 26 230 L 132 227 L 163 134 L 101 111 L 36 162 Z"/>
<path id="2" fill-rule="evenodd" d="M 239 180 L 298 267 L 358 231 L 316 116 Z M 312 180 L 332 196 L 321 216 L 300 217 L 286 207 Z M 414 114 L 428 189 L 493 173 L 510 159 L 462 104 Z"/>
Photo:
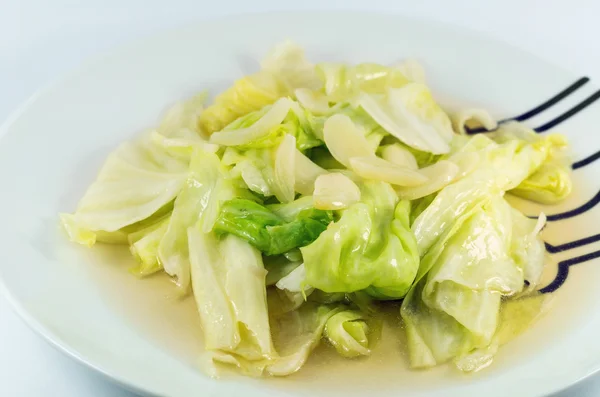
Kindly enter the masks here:
<path id="1" fill-rule="evenodd" d="M 540 272 L 536 269 L 533 274 L 523 266 L 531 261 L 531 266 L 539 267 L 543 243 L 528 237 L 535 224 L 513 233 L 519 231 L 512 226 L 515 216 L 523 215 L 502 197 L 489 197 L 423 256 L 421 266 L 428 270 L 420 271 L 421 279 L 401 311 L 413 367 L 437 365 L 490 346 L 499 327 L 501 298 L 521 292 L 525 281 L 537 284 Z M 515 260 L 513 248 L 521 260 Z M 525 258 L 523 251 L 528 252 Z"/>

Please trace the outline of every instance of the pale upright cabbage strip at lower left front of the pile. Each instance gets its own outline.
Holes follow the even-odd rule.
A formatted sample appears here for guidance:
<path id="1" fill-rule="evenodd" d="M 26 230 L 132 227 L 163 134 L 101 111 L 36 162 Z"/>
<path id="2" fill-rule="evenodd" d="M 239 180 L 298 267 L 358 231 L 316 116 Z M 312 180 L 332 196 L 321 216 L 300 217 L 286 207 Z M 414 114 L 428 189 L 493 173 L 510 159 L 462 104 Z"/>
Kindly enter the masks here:
<path id="1" fill-rule="evenodd" d="M 273 348 L 260 252 L 242 239 L 188 229 L 194 298 L 207 350 L 246 360 L 270 359 Z"/>

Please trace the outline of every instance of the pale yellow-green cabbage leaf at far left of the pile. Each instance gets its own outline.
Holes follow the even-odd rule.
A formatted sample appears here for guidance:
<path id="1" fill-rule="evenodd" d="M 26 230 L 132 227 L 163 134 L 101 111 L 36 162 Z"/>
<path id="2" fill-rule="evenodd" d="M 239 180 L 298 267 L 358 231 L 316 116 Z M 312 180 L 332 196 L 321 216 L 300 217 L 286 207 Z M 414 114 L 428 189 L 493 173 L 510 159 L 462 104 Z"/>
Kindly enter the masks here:
<path id="1" fill-rule="evenodd" d="M 158 131 L 125 142 L 108 156 L 75 213 L 61 214 L 72 241 L 126 243 L 129 233 L 170 211 L 185 184 L 192 151 L 217 150 L 190 129 L 202 103 L 200 96 L 176 105 Z"/>

